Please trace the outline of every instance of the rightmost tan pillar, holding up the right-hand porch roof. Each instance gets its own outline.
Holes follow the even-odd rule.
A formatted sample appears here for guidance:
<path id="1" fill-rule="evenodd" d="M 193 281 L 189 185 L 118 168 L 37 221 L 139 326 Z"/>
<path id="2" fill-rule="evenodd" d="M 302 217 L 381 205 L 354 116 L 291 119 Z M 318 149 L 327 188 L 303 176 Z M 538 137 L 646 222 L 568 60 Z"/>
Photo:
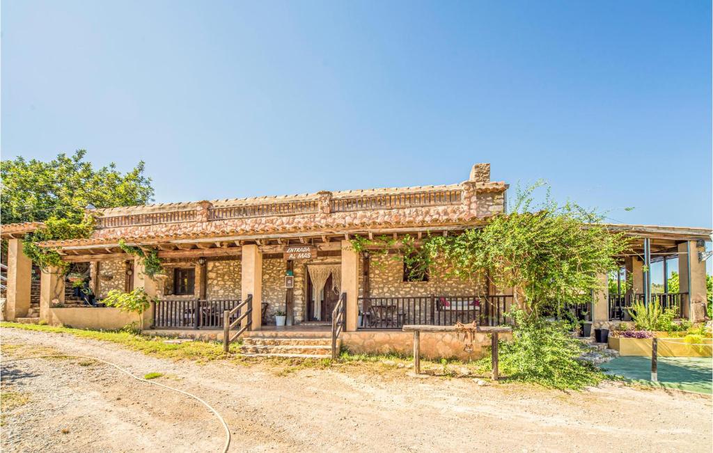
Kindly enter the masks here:
<path id="1" fill-rule="evenodd" d="M 698 259 L 698 253 L 705 247 L 697 246 L 696 242 L 678 244 L 678 291 L 688 293 L 682 301 L 683 316 L 693 322 L 703 321 L 706 312 L 706 263 Z"/>

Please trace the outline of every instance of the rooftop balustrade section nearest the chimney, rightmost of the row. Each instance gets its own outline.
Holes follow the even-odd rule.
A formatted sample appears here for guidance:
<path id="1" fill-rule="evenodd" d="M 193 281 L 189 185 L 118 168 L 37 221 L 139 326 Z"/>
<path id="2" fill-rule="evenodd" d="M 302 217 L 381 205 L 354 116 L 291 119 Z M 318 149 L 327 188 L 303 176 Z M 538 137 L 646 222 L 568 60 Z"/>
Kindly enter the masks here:
<path id="1" fill-rule="evenodd" d="M 363 211 L 369 209 L 399 209 L 408 207 L 441 206 L 461 202 L 461 189 L 403 194 L 366 195 L 364 197 L 331 200 L 331 212 Z"/>

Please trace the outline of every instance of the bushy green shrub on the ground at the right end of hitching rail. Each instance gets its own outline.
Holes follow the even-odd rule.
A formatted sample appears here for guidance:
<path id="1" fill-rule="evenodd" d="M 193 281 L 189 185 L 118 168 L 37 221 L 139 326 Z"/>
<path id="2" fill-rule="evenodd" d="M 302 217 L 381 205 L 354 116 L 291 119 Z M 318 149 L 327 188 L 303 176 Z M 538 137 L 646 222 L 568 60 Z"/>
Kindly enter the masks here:
<path id="1" fill-rule="evenodd" d="M 596 385 L 602 373 L 578 360 L 583 345 L 573 338 L 564 323 L 545 321 L 513 311 L 513 340 L 499 343 L 502 373 L 515 380 L 534 382 L 545 387 L 580 390 Z M 481 361 L 488 368 L 491 357 Z"/>

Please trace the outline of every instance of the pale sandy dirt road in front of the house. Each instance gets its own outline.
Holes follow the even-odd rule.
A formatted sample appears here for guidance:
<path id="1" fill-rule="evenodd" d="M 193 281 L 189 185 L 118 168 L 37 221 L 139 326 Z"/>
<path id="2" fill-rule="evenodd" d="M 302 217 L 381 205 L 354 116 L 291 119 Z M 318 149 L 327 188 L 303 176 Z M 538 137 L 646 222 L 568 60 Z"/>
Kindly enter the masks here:
<path id="1" fill-rule="evenodd" d="M 204 398 L 232 431 L 231 451 L 710 452 L 709 396 L 605 384 L 585 392 L 472 379 L 409 377 L 386 365 L 198 365 L 113 343 L 4 328 L 9 355 L 93 355 Z M 10 358 L 5 355 L 4 358 Z M 218 452 L 222 430 L 198 402 L 69 359 L 2 367 L 4 452 Z M 5 404 L 5 402 L 4 402 Z"/>

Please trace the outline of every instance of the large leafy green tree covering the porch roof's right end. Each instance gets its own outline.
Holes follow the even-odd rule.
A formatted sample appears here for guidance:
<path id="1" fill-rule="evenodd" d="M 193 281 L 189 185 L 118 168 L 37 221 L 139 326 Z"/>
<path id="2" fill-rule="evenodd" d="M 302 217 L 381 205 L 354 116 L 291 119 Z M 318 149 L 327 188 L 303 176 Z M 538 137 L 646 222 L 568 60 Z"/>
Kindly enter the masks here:
<path id="1" fill-rule="evenodd" d="M 513 210 L 481 229 L 429 238 L 426 254 L 443 256 L 463 278 L 486 270 L 496 286 L 517 286 L 535 316 L 551 301 L 590 301 L 591 291 L 604 289 L 597 274 L 618 269 L 614 256 L 629 249 L 629 239 L 607 231 L 594 211 L 557 204 L 549 190 L 544 202 L 535 203 L 533 192 L 543 184 L 518 190 Z"/>

